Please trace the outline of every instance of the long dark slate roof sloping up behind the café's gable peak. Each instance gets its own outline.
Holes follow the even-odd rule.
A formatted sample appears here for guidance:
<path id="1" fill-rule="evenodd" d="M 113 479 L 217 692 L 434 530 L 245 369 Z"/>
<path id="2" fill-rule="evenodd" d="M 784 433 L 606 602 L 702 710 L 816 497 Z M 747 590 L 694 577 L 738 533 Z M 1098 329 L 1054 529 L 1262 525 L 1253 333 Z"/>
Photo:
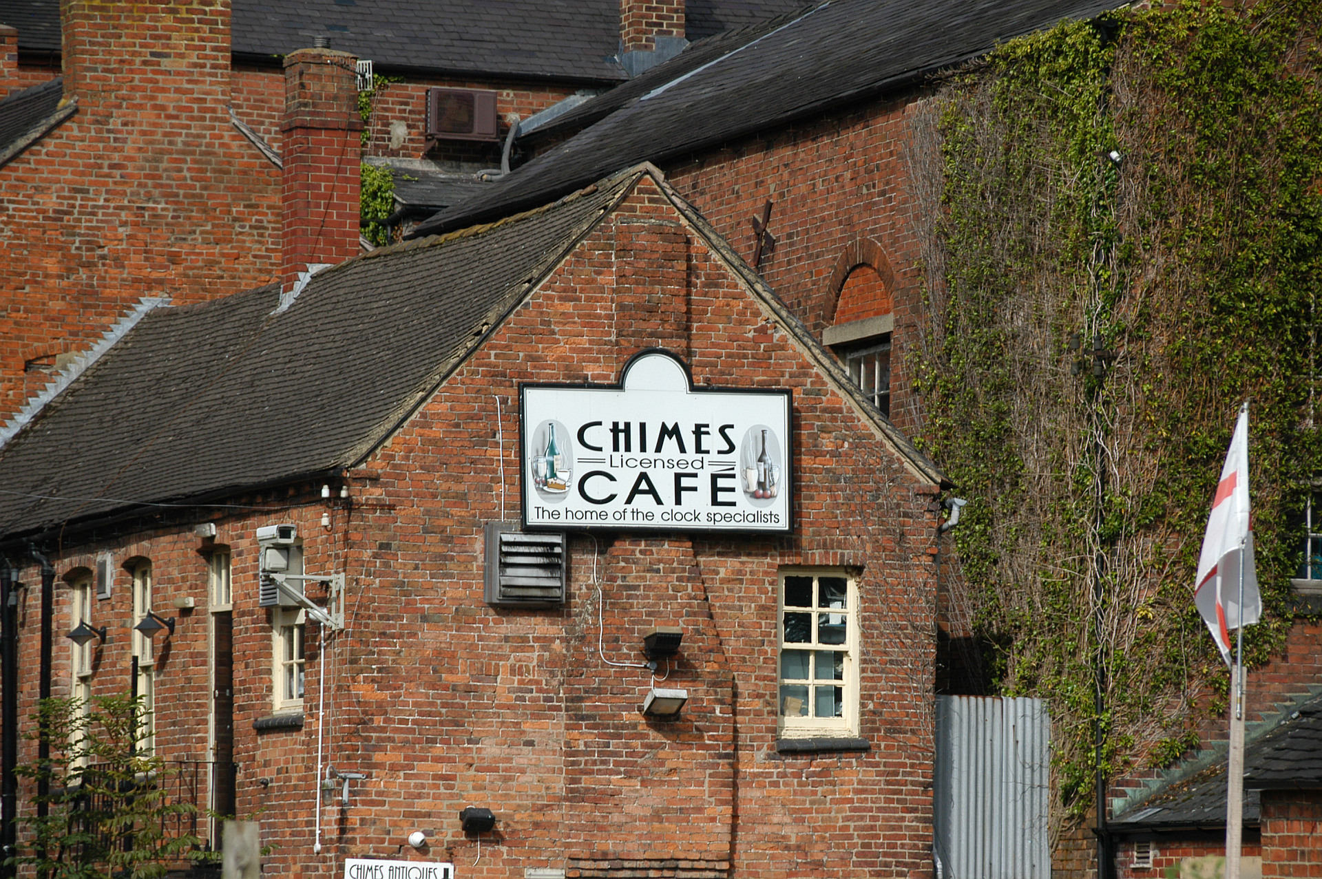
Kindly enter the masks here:
<path id="1" fill-rule="evenodd" d="M 788 21 L 739 32 L 739 46 L 726 41 L 728 52 L 706 66 L 693 69 L 686 57 L 702 50 L 701 44 L 657 65 L 629 83 L 629 95 L 636 96 L 628 103 L 414 234 L 525 210 L 640 161 L 661 164 L 908 87 L 1003 40 L 1120 5 L 1121 0 L 829 0 Z M 596 100 L 617 99 L 607 94 L 574 112 L 592 114 Z"/>

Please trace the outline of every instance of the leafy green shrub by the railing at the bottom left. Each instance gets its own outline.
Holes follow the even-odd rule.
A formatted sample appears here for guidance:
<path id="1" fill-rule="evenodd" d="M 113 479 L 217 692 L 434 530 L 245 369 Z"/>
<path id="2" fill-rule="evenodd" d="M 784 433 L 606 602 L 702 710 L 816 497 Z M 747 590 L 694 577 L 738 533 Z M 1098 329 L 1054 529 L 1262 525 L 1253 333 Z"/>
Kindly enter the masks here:
<path id="1" fill-rule="evenodd" d="M 48 879 L 159 879 L 196 854 L 196 837 L 169 833 L 194 806 L 169 798 L 160 757 L 135 752 L 140 698 L 104 697 L 90 706 L 44 699 L 33 720 L 28 738 L 45 730 L 50 759 L 17 772 L 46 784 L 49 793 L 33 804 L 44 802 L 48 813 L 20 817 L 29 838 L 9 863 L 34 866 Z"/>

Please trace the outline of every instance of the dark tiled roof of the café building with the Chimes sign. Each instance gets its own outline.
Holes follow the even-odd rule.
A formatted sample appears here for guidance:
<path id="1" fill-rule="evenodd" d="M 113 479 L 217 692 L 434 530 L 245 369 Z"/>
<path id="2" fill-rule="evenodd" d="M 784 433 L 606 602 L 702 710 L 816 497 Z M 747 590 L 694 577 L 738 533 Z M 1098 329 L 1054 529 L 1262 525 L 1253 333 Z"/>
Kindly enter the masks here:
<path id="1" fill-rule="evenodd" d="M 641 173 L 665 186 L 631 169 L 500 223 L 385 247 L 317 274 L 283 313 L 275 287 L 148 313 L 0 448 L 0 539 L 357 465 Z M 944 482 L 670 194 L 902 460 Z"/>

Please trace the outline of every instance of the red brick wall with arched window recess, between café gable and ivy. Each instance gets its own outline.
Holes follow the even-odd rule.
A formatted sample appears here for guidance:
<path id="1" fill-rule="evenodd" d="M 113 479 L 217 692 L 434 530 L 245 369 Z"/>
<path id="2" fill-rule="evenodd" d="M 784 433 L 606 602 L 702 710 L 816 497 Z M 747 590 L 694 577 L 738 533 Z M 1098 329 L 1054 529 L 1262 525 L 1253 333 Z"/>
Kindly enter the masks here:
<path id="1" fill-rule="evenodd" d="M 666 168 L 744 259 L 754 247 L 748 219 L 761 218 L 767 200 L 775 202 L 768 229 L 776 250 L 763 256 L 761 274 L 814 333 L 833 323 L 832 278 L 841 254 L 859 239 L 876 242 L 894 272 L 891 419 L 906 430 L 917 426 L 907 361 L 921 288 L 903 151 L 916 108 L 904 99 L 839 111 Z"/>

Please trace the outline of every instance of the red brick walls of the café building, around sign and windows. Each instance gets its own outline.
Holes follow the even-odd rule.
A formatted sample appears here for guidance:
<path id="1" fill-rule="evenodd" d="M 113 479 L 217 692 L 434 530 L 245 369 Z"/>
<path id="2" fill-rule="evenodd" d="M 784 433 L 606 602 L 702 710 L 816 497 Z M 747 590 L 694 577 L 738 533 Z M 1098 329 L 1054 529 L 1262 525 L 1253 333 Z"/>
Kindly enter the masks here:
<path id="1" fill-rule="evenodd" d="M 792 389 L 795 533 L 572 535 L 562 609 L 489 608 L 483 523 L 517 518 L 518 383 L 615 382 L 633 353 L 657 342 L 687 360 L 698 385 Z M 263 841 L 276 846 L 267 871 L 329 878 L 346 857 L 377 857 L 455 860 L 465 875 L 492 878 L 541 866 L 697 879 L 931 875 L 933 489 L 879 445 L 650 182 L 350 482 L 344 504 L 317 500 L 308 485 L 234 498 L 242 510 L 200 512 L 214 514 L 215 539 L 233 551 L 239 812 L 263 810 Z M 262 505 L 282 509 L 249 512 Z M 169 755 L 205 751 L 208 611 L 192 521 L 103 545 L 116 563 L 152 559 L 157 608 L 168 613 L 181 593 L 198 600 L 181 615 L 159 675 L 157 742 Z M 305 726 L 259 734 L 253 722 L 271 708 L 271 629 L 256 608 L 254 530 L 280 521 L 299 525 L 308 571 L 348 574 L 349 628 L 323 666 L 309 625 Z M 91 550 L 58 551 L 58 571 L 91 567 Z M 783 566 L 861 572 L 870 751 L 775 748 Z M 24 582 L 33 582 L 30 567 Z M 112 624 L 97 673 L 103 690 L 128 682 L 127 599 L 120 574 L 93 620 Z M 37 600 L 29 590 L 25 712 L 36 693 Z M 673 723 L 637 714 L 646 670 L 598 656 L 600 637 L 605 657 L 639 658 L 642 632 L 662 623 L 685 631 L 668 682 L 689 689 L 690 702 Z M 369 777 L 353 783 L 348 808 L 324 809 L 327 850 L 313 855 L 323 668 L 328 760 Z M 67 679 L 67 666 L 59 674 Z M 465 805 L 498 817 L 480 859 L 477 841 L 459 829 Z M 431 834 L 420 854 L 405 845 L 418 829 Z"/>

